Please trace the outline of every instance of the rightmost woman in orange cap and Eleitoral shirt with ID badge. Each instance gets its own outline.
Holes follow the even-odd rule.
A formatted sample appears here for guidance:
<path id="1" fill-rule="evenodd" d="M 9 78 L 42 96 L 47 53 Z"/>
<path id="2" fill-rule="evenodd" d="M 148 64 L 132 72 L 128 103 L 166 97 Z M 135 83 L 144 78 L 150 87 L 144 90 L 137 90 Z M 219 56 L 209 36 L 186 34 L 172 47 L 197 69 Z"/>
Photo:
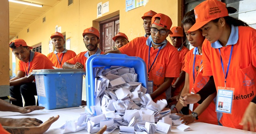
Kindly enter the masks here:
<path id="1" fill-rule="evenodd" d="M 218 89 L 234 89 L 230 106 L 232 114 L 222 113 L 220 123 L 244 130 L 250 127 L 250 131 L 256 131 L 256 30 L 228 16 L 229 9 L 218 0 L 202 2 L 194 9 L 196 23 L 188 32 L 201 29 L 207 39 L 202 48 L 203 75 L 212 75 Z M 198 95 L 185 95 L 180 98 L 181 103 L 194 102 L 190 97 Z"/>

